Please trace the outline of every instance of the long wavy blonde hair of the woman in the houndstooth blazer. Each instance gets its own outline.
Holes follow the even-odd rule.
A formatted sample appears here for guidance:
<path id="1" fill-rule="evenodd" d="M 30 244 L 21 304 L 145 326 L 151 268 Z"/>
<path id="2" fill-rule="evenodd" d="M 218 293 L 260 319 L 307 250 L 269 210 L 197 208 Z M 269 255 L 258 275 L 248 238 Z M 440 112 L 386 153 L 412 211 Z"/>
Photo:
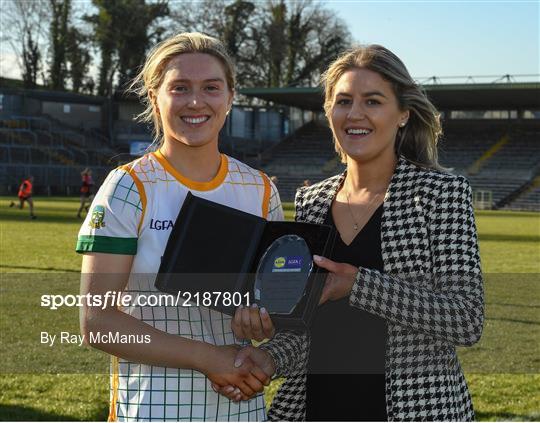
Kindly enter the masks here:
<path id="1" fill-rule="evenodd" d="M 439 165 L 437 142 L 442 134 L 440 114 L 423 90 L 414 82 L 403 62 L 390 50 L 380 45 L 359 46 L 338 57 L 321 77 L 324 87 L 324 111 L 330 121 L 334 91 L 343 74 L 351 69 L 369 69 L 377 72 L 392 85 L 400 110 L 409 110 L 407 125 L 396 135 L 396 154 L 427 168 Z M 346 154 L 334 135 L 334 147 L 341 161 Z"/>

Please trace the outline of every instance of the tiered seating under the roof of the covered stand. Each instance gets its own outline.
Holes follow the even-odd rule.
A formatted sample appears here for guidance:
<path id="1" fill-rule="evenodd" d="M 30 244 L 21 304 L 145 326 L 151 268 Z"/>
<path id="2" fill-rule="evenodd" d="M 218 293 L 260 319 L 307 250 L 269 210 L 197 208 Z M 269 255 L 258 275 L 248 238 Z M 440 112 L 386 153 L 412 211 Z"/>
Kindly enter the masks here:
<path id="1" fill-rule="evenodd" d="M 498 149 L 486 158 L 497 143 Z M 473 190 L 490 192 L 494 208 L 540 210 L 537 188 L 517 195 L 540 169 L 540 131 L 534 128 L 511 128 L 504 122 L 446 123 L 439 162 L 466 176 Z M 292 201 L 305 179 L 321 181 L 340 172 L 343 165 L 334 152 L 329 128 L 310 122 L 265 152 L 262 168 L 278 178 L 282 200 Z"/>

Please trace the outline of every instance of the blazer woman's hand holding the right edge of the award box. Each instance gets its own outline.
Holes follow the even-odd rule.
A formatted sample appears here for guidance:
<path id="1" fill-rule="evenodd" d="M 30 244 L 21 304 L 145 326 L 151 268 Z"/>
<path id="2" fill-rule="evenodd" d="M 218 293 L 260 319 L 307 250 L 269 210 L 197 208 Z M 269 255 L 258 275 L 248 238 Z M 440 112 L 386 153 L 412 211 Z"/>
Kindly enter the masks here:
<path id="1" fill-rule="evenodd" d="M 313 256 L 315 264 L 328 270 L 328 276 L 324 283 L 323 292 L 319 305 L 328 300 L 335 301 L 350 295 L 358 267 L 347 263 L 336 263 L 330 259 L 321 256 Z"/>

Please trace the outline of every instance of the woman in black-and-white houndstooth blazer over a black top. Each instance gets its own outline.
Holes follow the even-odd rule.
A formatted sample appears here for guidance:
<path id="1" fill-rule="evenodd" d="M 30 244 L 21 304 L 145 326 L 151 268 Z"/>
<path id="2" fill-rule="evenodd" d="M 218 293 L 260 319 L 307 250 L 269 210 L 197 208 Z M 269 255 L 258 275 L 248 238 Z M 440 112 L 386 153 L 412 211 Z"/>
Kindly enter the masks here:
<path id="1" fill-rule="evenodd" d="M 472 420 L 456 346 L 480 338 L 482 276 L 470 186 L 437 163 L 438 113 L 400 59 L 381 46 L 346 52 L 323 83 L 326 116 L 347 170 L 301 188 L 296 220 L 322 224 L 331 214 L 351 246 L 382 205 L 382 269 L 315 257 L 329 271 L 321 303 L 348 297 L 350 307 L 384 319 L 388 420 Z M 233 330 L 252 333 L 234 324 Z M 270 361 L 276 375 L 287 377 L 271 420 L 305 419 L 309 346 L 310 333 L 282 331 L 259 350 L 243 350 L 243 357 Z M 339 360 L 339 352 L 331 359 Z M 359 414 L 362 400 L 356 401 Z"/>

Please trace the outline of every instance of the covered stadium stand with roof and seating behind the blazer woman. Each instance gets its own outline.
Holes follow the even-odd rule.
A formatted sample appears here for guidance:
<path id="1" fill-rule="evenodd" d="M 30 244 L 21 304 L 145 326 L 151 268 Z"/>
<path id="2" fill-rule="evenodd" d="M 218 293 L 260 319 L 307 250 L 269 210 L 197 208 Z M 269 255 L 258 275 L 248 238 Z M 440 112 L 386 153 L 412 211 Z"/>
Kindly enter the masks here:
<path id="1" fill-rule="evenodd" d="M 440 163 L 465 175 L 475 192 L 489 194 L 489 208 L 519 207 L 517 200 L 525 195 L 523 190 L 540 167 L 540 84 L 433 84 L 424 85 L 424 89 L 444 116 Z M 316 87 L 250 88 L 240 93 L 322 112 L 322 92 Z M 313 129 L 313 125 L 308 123 L 306 127 Z M 318 136 L 326 140 L 322 148 L 331 148 L 328 128 L 320 129 Z M 304 179 L 317 182 L 343 168 L 335 154 L 328 155 L 328 150 L 312 152 L 308 144 L 304 148 L 300 131 L 290 138 L 264 154 L 262 162 L 268 174 L 277 176 L 284 201 L 294 198 L 295 188 Z M 291 152 L 286 153 L 285 144 L 297 147 L 296 159 Z M 313 166 L 301 164 L 308 158 Z M 316 169 L 324 160 L 326 163 Z M 532 207 L 540 210 L 540 205 Z"/>

